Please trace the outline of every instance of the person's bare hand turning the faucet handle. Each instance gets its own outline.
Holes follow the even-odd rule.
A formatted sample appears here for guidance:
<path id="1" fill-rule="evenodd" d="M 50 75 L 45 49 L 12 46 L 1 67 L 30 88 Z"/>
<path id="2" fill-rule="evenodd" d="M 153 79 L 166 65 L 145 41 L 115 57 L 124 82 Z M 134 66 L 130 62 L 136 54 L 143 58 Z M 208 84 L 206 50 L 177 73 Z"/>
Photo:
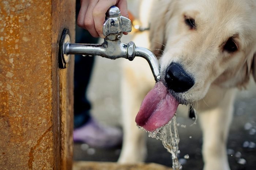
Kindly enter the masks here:
<path id="1" fill-rule="evenodd" d="M 105 13 L 110 7 L 116 5 L 121 15 L 128 17 L 126 0 L 81 0 L 81 8 L 78 14 L 77 24 L 79 27 L 87 29 L 93 37 L 103 36 L 103 23 Z M 124 33 L 127 34 L 127 33 Z"/>

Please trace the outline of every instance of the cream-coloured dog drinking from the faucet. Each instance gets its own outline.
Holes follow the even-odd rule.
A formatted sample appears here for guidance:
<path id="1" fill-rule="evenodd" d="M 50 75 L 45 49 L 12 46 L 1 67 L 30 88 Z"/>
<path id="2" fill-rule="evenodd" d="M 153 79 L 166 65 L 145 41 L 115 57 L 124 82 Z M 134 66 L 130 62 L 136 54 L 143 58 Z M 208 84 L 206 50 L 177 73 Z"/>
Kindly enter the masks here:
<path id="1" fill-rule="evenodd" d="M 229 170 L 226 141 L 236 91 L 245 88 L 250 77 L 256 81 L 256 0 L 146 0 L 141 6 L 140 20 L 144 27 L 150 23 L 150 30 L 133 40 L 159 57 L 158 90 L 166 89 L 176 103 L 197 111 L 204 170 Z M 140 58 L 124 64 L 122 78 L 124 139 L 118 162 L 144 161 L 145 133 L 134 119 L 155 82 Z M 149 119 L 137 115 L 136 122 L 145 126 Z"/>

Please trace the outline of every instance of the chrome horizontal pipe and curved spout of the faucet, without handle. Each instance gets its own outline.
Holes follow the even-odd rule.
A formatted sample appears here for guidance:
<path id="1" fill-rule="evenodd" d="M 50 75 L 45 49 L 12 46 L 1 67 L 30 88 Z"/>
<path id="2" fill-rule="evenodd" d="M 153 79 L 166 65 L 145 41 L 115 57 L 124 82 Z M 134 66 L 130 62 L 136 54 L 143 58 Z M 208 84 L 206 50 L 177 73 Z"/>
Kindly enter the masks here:
<path id="1" fill-rule="evenodd" d="M 102 44 L 65 44 L 64 54 L 97 55 L 108 59 L 125 58 L 133 60 L 135 56 L 147 60 L 155 81 L 160 80 L 159 63 L 153 52 L 143 47 L 135 47 L 131 41 L 128 44 L 120 40 L 104 40 Z"/>

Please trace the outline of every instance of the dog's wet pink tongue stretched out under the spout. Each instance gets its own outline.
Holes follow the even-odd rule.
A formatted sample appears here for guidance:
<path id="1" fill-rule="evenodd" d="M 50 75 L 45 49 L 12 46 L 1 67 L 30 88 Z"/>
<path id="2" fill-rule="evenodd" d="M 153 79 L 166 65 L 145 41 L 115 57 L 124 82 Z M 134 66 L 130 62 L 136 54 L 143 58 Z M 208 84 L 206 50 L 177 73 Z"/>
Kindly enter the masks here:
<path id="1" fill-rule="evenodd" d="M 178 104 L 163 83 L 158 82 L 142 101 L 135 122 L 147 131 L 154 131 L 173 118 Z"/>

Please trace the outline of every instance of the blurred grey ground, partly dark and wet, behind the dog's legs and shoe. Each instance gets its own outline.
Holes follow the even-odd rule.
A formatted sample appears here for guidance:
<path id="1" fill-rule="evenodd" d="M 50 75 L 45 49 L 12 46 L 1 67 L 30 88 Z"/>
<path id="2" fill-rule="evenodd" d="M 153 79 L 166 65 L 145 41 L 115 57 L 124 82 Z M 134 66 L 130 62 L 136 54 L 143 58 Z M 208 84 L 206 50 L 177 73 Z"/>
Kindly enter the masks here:
<path id="1" fill-rule="evenodd" d="M 89 98 L 93 103 L 93 116 L 102 124 L 110 126 L 120 126 L 121 122 L 119 96 L 121 60 L 97 57 L 89 88 Z M 239 93 L 234 107 L 234 119 L 227 144 L 230 167 L 232 170 L 255 170 L 256 86 L 254 82 L 251 82 L 249 90 Z M 202 133 L 199 124 L 190 126 L 193 123 L 192 120 L 180 115 L 177 115 L 177 123 L 180 124 L 178 127 L 180 136 L 178 158 L 183 169 L 202 169 Z M 171 155 L 162 146 L 161 141 L 148 138 L 147 146 L 146 162 L 171 166 Z M 120 154 L 120 149 L 121 146 L 113 149 L 96 149 L 87 144 L 75 143 L 74 160 L 115 162 Z M 185 159 L 184 156 L 188 159 Z"/>

